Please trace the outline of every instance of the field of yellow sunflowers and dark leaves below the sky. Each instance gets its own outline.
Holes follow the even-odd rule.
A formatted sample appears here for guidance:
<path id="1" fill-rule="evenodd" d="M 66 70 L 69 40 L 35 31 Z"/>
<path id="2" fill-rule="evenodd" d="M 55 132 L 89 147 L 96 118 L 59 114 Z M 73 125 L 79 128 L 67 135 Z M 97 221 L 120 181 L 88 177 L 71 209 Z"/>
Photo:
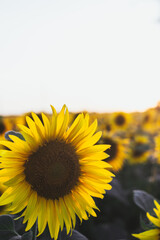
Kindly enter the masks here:
<path id="1" fill-rule="evenodd" d="M 160 106 L 0 116 L 0 240 L 159 240 Z"/>

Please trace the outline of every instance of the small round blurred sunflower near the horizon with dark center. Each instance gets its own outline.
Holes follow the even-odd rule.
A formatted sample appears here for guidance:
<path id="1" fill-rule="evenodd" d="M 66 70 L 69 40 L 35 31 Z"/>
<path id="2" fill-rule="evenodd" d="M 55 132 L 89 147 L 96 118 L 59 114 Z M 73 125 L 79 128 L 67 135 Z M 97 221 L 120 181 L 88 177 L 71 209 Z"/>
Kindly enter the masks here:
<path id="1" fill-rule="evenodd" d="M 112 114 L 112 126 L 115 130 L 126 130 L 131 123 L 131 114 L 124 112 L 115 112 Z"/>

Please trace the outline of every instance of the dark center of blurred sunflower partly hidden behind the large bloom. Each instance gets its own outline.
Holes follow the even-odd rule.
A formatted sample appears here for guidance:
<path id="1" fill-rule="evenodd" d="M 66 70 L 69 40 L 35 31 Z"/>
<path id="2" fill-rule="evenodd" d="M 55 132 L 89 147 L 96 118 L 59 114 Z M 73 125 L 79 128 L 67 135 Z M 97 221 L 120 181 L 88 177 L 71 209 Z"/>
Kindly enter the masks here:
<path id="1" fill-rule="evenodd" d="M 107 162 L 109 162 L 112 159 L 114 159 L 117 155 L 118 152 L 117 143 L 111 138 L 105 138 L 103 139 L 103 141 L 105 144 L 111 145 L 111 147 L 105 151 L 107 154 L 109 154 L 109 157 L 107 158 Z"/>

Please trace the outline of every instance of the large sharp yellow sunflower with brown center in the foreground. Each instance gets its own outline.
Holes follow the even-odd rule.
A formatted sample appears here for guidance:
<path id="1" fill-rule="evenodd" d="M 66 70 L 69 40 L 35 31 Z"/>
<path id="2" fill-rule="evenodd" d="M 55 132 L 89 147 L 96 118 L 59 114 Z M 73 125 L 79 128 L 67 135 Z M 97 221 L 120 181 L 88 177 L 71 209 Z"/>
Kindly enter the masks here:
<path id="1" fill-rule="evenodd" d="M 26 231 L 38 219 L 38 236 L 48 224 L 56 240 L 64 225 L 67 234 L 72 231 L 76 215 L 81 221 L 96 216 L 93 197 L 103 198 L 114 174 L 102 161 L 110 146 L 96 145 L 97 121 L 89 125 L 89 115 L 79 114 L 68 128 L 67 107 L 59 114 L 51 107 L 51 120 L 42 113 L 42 122 L 32 113 L 28 127 L 19 125 L 25 141 L 9 135 L 12 141 L 0 142 L 9 148 L 0 151 L 0 180 L 7 186 L 0 205 L 11 204 L 13 214 L 22 211 Z"/>

